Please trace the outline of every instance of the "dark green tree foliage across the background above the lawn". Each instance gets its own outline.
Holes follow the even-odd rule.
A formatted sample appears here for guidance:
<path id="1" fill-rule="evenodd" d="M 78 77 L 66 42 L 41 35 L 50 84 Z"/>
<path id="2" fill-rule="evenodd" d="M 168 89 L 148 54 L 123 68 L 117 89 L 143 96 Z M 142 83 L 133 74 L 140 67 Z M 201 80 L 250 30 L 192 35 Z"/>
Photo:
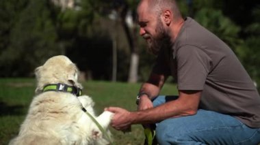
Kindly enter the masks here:
<path id="1" fill-rule="evenodd" d="M 187 3 L 189 1 L 192 3 Z M 259 61 L 255 57 L 259 52 L 259 1 L 177 2 L 183 16 L 192 16 L 229 44 L 253 80 L 259 80 Z M 122 12 L 123 8 L 127 8 L 135 12 L 138 3 L 135 0 L 83 0 L 76 1 L 74 9 L 61 9 L 52 5 L 51 1 L 2 0 L 0 77 L 32 76 L 34 68 L 49 57 L 66 54 L 80 66 L 81 71 L 92 71 L 94 79 L 109 80 L 112 72 L 112 41 L 116 39 L 118 80 L 126 81 L 130 49 L 125 32 L 119 27 L 122 21 L 104 22 L 103 19 L 112 10 Z M 133 16 L 136 14 L 133 13 Z M 131 34 L 138 37 L 138 28 L 133 29 L 135 31 L 131 31 Z M 149 74 L 154 58 L 146 53 L 146 46 L 139 39 L 139 77 L 143 81 Z"/>

